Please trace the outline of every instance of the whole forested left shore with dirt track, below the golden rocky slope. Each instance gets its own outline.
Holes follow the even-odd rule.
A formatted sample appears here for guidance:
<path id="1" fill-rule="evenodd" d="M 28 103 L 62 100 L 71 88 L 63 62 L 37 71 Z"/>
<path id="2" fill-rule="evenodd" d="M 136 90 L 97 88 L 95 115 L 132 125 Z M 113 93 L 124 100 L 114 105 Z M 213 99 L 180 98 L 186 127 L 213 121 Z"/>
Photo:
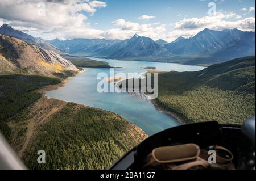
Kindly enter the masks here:
<path id="1" fill-rule="evenodd" d="M 47 99 L 36 90 L 60 79 L 0 76 L 0 131 L 29 169 L 107 169 L 146 134 L 122 117 Z M 47 163 L 39 165 L 38 150 Z"/>

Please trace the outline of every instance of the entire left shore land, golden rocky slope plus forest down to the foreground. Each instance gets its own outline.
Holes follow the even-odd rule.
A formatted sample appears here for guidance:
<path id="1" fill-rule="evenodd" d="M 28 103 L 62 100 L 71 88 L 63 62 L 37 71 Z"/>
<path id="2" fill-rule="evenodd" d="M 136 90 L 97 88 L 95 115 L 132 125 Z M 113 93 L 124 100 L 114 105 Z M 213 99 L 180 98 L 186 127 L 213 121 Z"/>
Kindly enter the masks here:
<path id="1" fill-rule="evenodd" d="M 78 72 L 59 54 L 0 35 L 0 132 L 29 169 L 107 169 L 147 137 L 115 113 L 39 91 Z M 38 150 L 46 164 L 38 164 Z"/>

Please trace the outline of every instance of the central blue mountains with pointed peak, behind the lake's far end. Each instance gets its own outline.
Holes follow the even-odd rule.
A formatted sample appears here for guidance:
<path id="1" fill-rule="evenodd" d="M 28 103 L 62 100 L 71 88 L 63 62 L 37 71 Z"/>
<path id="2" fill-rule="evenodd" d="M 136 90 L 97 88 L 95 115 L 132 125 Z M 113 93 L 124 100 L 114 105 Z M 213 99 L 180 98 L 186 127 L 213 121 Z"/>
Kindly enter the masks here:
<path id="1" fill-rule="evenodd" d="M 48 41 L 52 45 L 70 54 L 82 56 L 100 56 L 106 58 L 123 57 L 162 57 L 170 56 L 171 53 L 163 48 L 164 40 L 154 40 L 134 35 L 127 40 L 106 39 L 73 39 Z M 161 45 L 162 44 L 162 45 Z"/>

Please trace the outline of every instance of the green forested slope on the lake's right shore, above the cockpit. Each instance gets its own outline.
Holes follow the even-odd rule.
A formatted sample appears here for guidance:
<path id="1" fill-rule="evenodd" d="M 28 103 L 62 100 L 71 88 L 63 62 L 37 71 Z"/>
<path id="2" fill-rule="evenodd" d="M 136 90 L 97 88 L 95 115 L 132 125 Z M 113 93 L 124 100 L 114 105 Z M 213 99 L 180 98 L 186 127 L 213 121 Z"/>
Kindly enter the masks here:
<path id="1" fill-rule="evenodd" d="M 240 124 L 255 115 L 255 57 L 192 73 L 161 73 L 156 106 L 177 113 L 186 123 Z"/>

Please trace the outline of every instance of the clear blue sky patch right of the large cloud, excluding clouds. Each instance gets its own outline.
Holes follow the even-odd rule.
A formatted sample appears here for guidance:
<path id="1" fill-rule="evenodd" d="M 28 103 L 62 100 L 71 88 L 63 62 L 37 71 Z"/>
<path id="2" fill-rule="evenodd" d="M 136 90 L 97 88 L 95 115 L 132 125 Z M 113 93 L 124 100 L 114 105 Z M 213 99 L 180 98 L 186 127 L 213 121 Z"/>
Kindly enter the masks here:
<path id="1" fill-rule="evenodd" d="M 164 24 L 174 24 L 184 18 L 200 18 L 207 16 L 209 10 L 208 3 L 216 2 L 217 11 L 233 11 L 238 15 L 243 15 L 241 10 L 243 7 L 255 7 L 255 1 L 252 0 L 226 0 L 226 1 L 200 1 L 200 0 L 106 0 L 107 7 L 100 9 L 97 13 L 89 19 L 92 26 L 95 28 L 109 29 L 113 28 L 110 22 L 117 18 L 130 20 L 131 22 L 142 23 L 138 20 L 141 15 L 155 16 L 150 22 L 159 22 Z M 255 11 L 243 17 L 255 17 Z M 102 18 L 104 17 L 104 18 Z M 98 23 L 95 25 L 94 23 Z"/>

